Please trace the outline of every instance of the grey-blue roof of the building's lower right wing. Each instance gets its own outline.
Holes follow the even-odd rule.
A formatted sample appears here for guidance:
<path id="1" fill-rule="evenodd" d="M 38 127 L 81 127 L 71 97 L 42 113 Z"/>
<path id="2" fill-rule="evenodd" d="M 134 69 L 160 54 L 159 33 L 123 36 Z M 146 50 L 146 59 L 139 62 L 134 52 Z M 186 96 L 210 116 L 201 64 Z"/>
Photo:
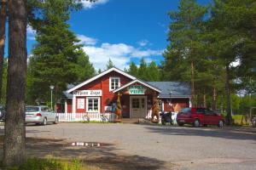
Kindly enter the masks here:
<path id="1" fill-rule="evenodd" d="M 172 92 L 171 97 L 191 96 L 189 84 L 184 82 L 148 82 L 148 84 L 161 90 L 160 98 L 170 98 L 170 92 Z"/>

